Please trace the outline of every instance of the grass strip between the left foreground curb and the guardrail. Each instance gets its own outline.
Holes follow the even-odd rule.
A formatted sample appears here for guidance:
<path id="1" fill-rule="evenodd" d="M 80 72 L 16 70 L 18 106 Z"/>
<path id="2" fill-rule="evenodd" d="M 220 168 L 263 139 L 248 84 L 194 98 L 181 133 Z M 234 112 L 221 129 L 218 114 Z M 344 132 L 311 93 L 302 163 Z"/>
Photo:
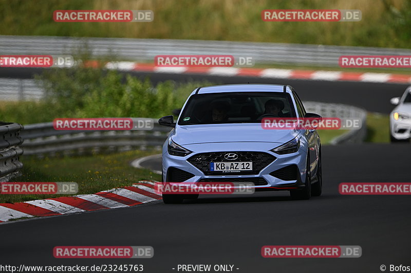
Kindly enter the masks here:
<path id="1" fill-rule="evenodd" d="M 129 151 L 85 157 L 44 158 L 21 157 L 23 176 L 18 182 L 77 182 L 78 194 L 94 194 L 110 188 L 129 186 L 140 180 L 160 180 L 161 175 L 136 169 L 130 161 L 158 150 Z M 24 202 L 65 195 L 0 195 L 0 203 Z"/>

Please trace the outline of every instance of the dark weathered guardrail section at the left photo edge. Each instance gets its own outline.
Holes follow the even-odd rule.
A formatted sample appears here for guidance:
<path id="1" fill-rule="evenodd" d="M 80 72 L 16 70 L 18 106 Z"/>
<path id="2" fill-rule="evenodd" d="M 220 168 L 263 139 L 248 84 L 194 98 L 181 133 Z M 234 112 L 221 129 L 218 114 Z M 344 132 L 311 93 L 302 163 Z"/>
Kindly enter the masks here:
<path id="1" fill-rule="evenodd" d="M 23 163 L 19 161 L 19 156 L 23 150 L 18 145 L 23 143 L 19 135 L 22 129 L 21 124 L 0 121 L 0 182 L 21 175 Z"/>

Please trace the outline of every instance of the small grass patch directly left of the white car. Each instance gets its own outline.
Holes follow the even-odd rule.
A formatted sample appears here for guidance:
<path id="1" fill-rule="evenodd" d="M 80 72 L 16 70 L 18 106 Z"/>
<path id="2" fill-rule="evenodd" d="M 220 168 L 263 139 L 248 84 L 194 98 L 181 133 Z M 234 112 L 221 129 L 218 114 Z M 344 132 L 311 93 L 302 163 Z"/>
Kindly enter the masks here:
<path id="1" fill-rule="evenodd" d="M 368 113 L 367 137 L 365 142 L 389 143 L 389 116 L 386 114 Z"/>

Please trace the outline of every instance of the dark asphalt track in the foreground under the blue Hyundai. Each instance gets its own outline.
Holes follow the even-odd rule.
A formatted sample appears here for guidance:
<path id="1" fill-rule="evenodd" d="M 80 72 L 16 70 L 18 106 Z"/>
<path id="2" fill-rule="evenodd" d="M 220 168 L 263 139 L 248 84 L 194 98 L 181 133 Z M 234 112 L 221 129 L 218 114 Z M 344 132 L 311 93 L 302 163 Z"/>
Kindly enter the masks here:
<path id="1" fill-rule="evenodd" d="M 341 182 L 409 182 L 409 144 L 323 147 L 324 193 L 201 196 L 0 225 L 0 263 L 137 264 L 177 272 L 178 264 L 234 264 L 238 272 L 380 272 L 411 265 L 410 196 L 342 196 Z M 157 170 L 159 159 L 148 162 Z M 58 245 L 151 245 L 152 259 L 55 259 Z M 360 245 L 361 258 L 262 258 L 263 245 Z M 387 270 L 388 271 L 388 270 Z M 181 272 L 181 271 L 180 271 Z"/>

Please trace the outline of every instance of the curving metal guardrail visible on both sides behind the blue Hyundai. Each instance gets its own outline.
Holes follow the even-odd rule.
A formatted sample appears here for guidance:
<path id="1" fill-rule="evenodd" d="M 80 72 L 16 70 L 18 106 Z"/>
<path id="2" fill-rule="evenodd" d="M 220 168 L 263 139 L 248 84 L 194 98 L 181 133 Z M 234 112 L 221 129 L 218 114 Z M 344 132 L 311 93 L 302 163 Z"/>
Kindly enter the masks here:
<path id="1" fill-rule="evenodd" d="M 325 117 L 357 117 L 363 121 L 363 128 L 349 131 L 333 144 L 361 142 L 365 137 L 366 112 L 360 108 L 344 104 L 304 102 L 306 110 Z M 82 155 L 114 151 L 129 151 L 147 148 L 160 149 L 170 128 L 151 119 L 154 129 L 150 131 L 57 131 L 52 122 L 26 125 L 21 136 L 25 142 L 25 155 Z M 349 134 L 349 135 L 348 135 Z"/>

